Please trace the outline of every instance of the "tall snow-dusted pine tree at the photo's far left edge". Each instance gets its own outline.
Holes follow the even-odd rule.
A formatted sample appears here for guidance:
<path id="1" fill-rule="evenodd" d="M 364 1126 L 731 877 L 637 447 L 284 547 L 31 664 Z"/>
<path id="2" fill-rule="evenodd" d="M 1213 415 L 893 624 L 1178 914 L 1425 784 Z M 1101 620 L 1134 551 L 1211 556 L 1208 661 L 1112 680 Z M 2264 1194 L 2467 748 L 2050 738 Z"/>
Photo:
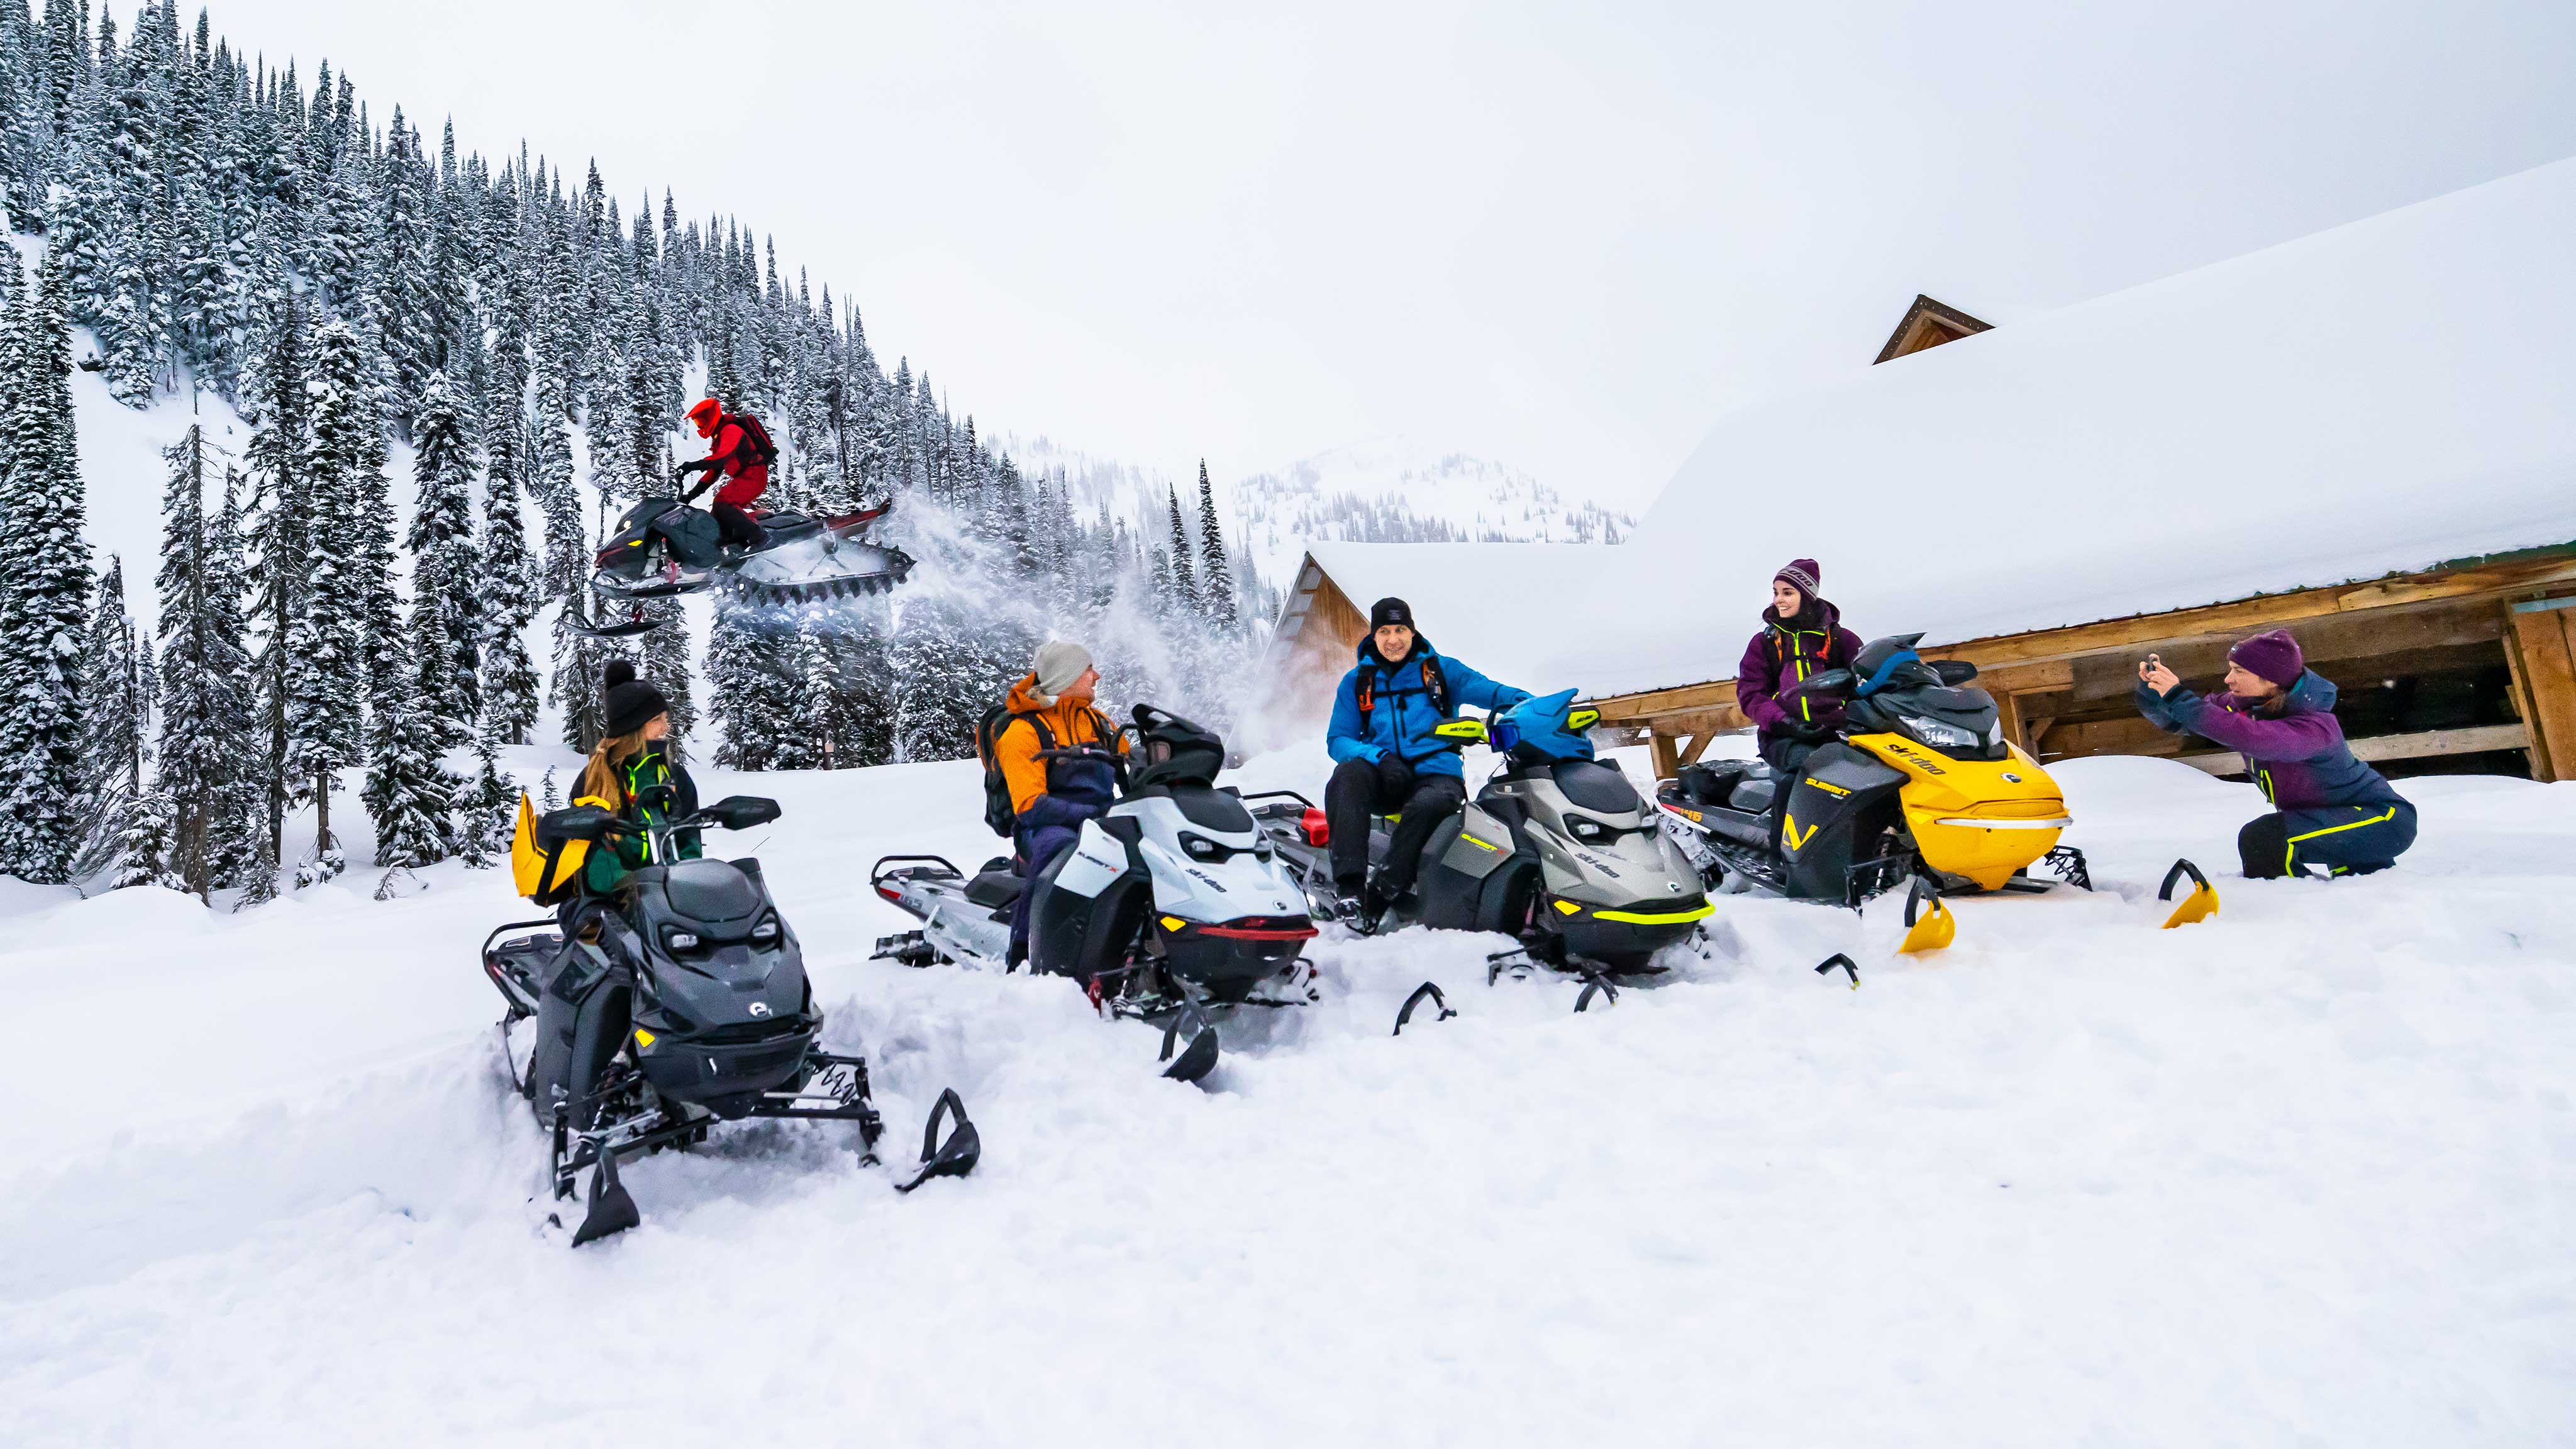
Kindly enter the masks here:
<path id="1" fill-rule="evenodd" d="M 31 882 L 72 879 L 90 825 L 82 804 L 82 627 L 90 614 L 90 544 L 82 536 L 80 451 L 72 441 L 70 340 L 62 266 L 18 289 L 18 258 L 0 266 L 8 302 L 0 400 L 10 456 L 0 469 L 0 869 Z"/>

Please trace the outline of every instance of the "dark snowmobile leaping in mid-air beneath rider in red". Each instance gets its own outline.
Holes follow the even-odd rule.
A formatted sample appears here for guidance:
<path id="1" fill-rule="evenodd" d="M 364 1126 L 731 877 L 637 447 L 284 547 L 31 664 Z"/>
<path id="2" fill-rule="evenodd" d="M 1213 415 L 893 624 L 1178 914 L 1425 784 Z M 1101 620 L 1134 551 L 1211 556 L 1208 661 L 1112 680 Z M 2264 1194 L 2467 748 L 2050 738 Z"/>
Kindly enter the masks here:
<path id="1" fill-rule="evenodd" d="M 814 603 L 891 590 L 912 572 L 912 557 L 891 544 L 871 544 L 868 526 L 891 505 L 858 513 L 760 513 L 765 539 L 757 549 L 726 544 L 716 516 L 690 508 L 698 487 L 685 495 L 657 495 L 636 503 L 592 557 L 590 588 L 634 606 L 629 619 L 592 624 L 582 632 L 621 639 L 657 629 L 644 616 L 644 601 L 677 598 L 708 585 L 739 590 L 757 603 Z"/>

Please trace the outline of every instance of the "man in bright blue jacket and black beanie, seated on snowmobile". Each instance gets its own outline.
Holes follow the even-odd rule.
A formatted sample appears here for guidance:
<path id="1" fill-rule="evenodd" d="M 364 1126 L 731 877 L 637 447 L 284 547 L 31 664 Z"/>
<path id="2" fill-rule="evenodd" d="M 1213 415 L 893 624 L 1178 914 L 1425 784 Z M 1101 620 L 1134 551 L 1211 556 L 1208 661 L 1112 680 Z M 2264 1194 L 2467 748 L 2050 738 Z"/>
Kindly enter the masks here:
<path id="1" fill-rule="evenodd" d="M 1414 611 L 1401 598 L 1370 606 L 1360 663 L 1342 676 L 1324 732 L 1337 761 L 1324 789 L 1332 882 L 1347 920 L 1373 928 L 1388 905 L 1412 892 L 1422 843 L 1466 804 L 1458 748 L 1432 730 L 1455 719 L 1461 704 L 1499 712 L 1522 699 L 1530 699 L 1525 688 L 1494 683 L 1432 650 L 1414 634 Z M 1386 866 L 1370 882 L 1368 820 L 1399 812 Z"/>

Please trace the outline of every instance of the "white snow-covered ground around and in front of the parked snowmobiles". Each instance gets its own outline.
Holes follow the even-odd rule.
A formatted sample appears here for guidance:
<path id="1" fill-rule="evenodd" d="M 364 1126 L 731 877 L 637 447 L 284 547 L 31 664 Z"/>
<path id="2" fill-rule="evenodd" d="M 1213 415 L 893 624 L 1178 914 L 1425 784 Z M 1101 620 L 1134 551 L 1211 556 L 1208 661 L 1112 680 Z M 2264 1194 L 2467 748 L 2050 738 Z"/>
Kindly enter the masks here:
<path id="1" fill-rule="evenodd" d="M 907 1199 L 837 1127 L 719 1127 L 582 1250 L 474 962 L 533 915 L 505 871 L 13 890 L 0 1441 L 2576 1434 L 2576 786 L 2406 781 L 2421 846 L 2324 884 L 2226 874 L 2244 786 L 2058 776 L 2105 890 L 1958 902 L 1940 957 L 1893 905 L 1721 900 L 1708 959 L 1571 1016 L 1484 985 L 1497 938 L 1329 936 L 1200 1091 L 1069 982 L 866 959 L 907 928 L 876 853 L 992 853 L 974 766 L 708 771 L 786 804 L 714 848 L 768 866 L 889 1160 L 956 1085 L 984 1163 Z M 2177 853 L 2226 905 L 2156 931 Z M 1425 977 L 1461 1016 L 1388 1036 Z"/>

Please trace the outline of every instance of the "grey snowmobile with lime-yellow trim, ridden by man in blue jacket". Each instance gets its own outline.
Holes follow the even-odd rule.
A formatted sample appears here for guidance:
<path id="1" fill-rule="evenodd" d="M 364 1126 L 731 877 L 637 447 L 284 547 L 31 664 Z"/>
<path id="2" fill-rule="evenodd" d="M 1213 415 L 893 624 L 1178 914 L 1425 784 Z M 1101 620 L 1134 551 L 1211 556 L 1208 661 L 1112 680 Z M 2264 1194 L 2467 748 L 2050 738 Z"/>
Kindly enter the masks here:
<path id="1" fill-rule="evenodd" d="M 1574 691 L 1530 699 L 1492 722 L 1450 719 L 1440 737 L 1502 750 L 1484 789 L 1422 846 L 1409 900 L 1378 923 L 1517 936 L 1502 969 L 1538 962 L 1584 977 L 1643 975 L 1664 946 L 1685 941 L 1710 913 L 1700 877 L 1664 838 L 1654 812 L 1615 763 L 1592 758 L 1584 737 L 1600 714 L 1574 709 Z M 1324 812 L 1296 792 L 1252 797 L 1278 851 L 1296 866 L 1306 897 L 1329 902 L 1332 838 Z M 1383 864 L 1391 825 L 1368 833 L 1370 864 Z"/>

